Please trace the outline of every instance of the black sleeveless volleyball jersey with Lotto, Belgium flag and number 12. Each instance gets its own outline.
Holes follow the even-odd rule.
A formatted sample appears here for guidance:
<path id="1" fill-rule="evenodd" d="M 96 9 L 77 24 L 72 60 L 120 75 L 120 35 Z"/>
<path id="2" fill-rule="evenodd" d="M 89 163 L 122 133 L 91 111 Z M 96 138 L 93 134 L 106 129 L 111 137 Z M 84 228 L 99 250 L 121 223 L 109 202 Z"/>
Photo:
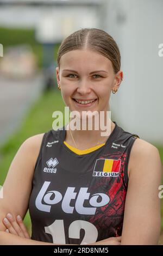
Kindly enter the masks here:
<path id="1" fill-rule="evenodd" d="M 114 123 L 105 145 L 83 155 L 64 144 L 65 129 L 43 135 L 29 199 L 33 240 L 80 245 L 122 234 L 128 161 L 139 136 Z"/>

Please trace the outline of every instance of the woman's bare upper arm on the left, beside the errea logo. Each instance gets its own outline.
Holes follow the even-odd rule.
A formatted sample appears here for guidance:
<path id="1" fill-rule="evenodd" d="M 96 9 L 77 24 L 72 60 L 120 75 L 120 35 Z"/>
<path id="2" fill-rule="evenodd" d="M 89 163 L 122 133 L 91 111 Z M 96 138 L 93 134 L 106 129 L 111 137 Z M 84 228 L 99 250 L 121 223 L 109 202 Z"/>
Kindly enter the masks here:
<path id="1" fill-rule="evenodd" d="M 3 224 L 3 218 L 8 212 L 12 212 L 14 217 L 21 215 L 21 217 L 24 218 L 26 215 L 32 189 L 35 162 L 39 155 L 42 137 L 43 133 L 24 141 L 12 160 L 7 178 L 3 185 L 3 198 L 0 199 L 1 231 L 6 229 Z M 1 232 L 0 244 L 3 244 L 3 236 L 8 236 L 8 244 L 12 242 L 12 239 L 9 239 L 12 237 L 11 234 Z M 20 239 L 20 237 L 16 237 L 16 239 Z"/>

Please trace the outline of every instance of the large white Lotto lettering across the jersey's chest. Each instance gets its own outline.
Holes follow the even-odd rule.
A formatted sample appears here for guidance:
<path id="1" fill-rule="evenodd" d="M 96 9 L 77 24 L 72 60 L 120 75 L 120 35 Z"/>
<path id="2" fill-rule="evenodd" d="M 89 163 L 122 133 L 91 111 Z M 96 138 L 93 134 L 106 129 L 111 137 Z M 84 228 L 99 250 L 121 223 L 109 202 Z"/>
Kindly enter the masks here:
<path id="1" fill-rule="evenodd" d="M 59 191 L 47 191 L 50 184 L 50 181 L 45 181 L 36 197 L 35 205 L 40 211 L 50 212 L 52 205 L 62 201 L 61 208 L 67 214 L 73 214 L 74 209 L 76 209 L 78 214 L 95 215 L 98 207 L 102 207 L 110 202 L 107 194 L 96 193 L 91 195 L 87 192 L 88 187 L 81 187 L 79 193 L 74 192 L 75 187 L 67 187 L 64 196 L 62 196 Z M 76 199 L 74 206 L 71 206 L 72 199 Z M 89 200 L 90 207 L 84 206 L 85 200 Z"/>

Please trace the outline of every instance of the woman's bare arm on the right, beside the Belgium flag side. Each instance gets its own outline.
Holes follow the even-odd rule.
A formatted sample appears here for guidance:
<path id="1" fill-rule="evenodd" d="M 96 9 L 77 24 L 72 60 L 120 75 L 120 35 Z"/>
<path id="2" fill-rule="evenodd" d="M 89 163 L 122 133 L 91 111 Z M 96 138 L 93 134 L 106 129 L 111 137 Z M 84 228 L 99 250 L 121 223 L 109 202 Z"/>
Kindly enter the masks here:
<path id="1" fill-rule="evenodd" d="M 152 144 L 136 139 L 130 155 L 130 174 L 121 245 L 156 245 L 160 235 L 161 161 Z"/>

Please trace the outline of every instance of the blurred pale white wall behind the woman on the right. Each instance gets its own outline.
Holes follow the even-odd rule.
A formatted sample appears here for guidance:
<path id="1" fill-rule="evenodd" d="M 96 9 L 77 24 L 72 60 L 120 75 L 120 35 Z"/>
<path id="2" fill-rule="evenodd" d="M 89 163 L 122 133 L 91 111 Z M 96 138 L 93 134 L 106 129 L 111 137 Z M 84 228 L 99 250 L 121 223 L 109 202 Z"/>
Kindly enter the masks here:
<path id="1" fill-rule="evenodd" d="M 124 80 L 110 105 L 124 129 L 163 144 L 162 0 L 106 0 L 103 28 L 120 47 Z"/>

